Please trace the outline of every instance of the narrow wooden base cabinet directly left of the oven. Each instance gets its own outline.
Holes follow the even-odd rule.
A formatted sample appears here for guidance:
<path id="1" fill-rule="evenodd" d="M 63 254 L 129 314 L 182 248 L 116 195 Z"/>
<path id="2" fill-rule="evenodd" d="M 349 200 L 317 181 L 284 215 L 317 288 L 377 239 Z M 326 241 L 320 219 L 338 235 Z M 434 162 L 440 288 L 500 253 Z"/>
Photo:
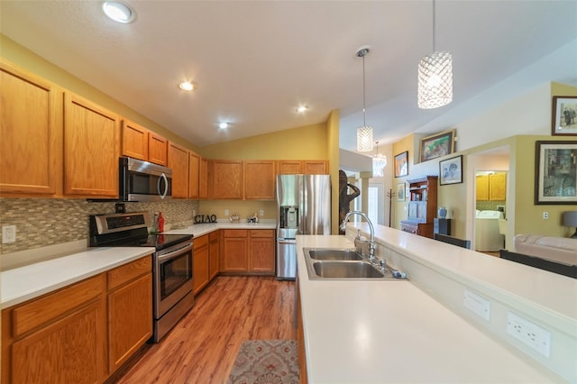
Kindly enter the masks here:
<path id="1" fill-rule="evenodd" d="M 151 256 L 107 272 L 108 373 L 117 370 L 152 335 Z"/>

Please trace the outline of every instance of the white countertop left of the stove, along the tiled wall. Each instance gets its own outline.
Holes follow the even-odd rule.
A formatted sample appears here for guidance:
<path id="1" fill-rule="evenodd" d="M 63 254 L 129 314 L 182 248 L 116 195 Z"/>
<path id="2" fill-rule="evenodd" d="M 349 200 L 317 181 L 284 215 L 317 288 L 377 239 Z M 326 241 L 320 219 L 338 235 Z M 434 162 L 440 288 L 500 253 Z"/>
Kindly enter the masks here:
<path id="1" fill-rule="evenodd" d="M 153 247 L 91 248 L 0 272 L 0 306 L 23 303 L 154 252 Z"/>

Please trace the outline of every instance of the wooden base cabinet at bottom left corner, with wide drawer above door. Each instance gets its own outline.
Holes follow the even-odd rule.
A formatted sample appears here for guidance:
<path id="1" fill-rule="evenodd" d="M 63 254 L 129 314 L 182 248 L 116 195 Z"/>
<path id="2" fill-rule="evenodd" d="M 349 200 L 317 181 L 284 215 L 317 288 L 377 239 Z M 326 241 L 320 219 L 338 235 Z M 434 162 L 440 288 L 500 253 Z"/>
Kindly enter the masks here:
<path id="1" fill-rule="evenodd" d="M 103 382 L 105 274 L 2 311 L 2 382 Z"/>

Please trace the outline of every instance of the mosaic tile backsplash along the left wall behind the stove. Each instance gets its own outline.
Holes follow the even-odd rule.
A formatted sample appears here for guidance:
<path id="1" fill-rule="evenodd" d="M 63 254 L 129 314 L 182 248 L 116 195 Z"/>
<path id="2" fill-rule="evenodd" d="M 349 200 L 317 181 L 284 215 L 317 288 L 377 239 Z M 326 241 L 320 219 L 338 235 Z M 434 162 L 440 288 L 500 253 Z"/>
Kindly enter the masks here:
<path id="1" fill-rule="evenodd" d="M 167 226 L 192 224 L 196 200 L 124 203 L 126 212 L 162 212 Z M 2 244 L 0 253 L 25 251 L 88 238 L 88 216 L 114 213 L 114 202 L 68 198 L 0 198 L 0 224 L 16 225 L 16 242 Z M 0 237 L 2 234 L 0 233 Z"/>

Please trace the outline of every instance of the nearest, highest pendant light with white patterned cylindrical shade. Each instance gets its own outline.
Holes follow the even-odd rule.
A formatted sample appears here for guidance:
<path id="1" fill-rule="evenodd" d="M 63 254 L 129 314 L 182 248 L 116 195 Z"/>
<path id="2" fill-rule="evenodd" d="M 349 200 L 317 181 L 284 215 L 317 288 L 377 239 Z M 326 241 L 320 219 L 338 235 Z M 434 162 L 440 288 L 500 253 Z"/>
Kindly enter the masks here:
<path id="1" fill-rule="evenodd" d="M 418 64 L 418 107 L 438 108 L 453 101 L 453 57 L 435 51 L 435 0 L 433 0 L 433 53 Z"/>

